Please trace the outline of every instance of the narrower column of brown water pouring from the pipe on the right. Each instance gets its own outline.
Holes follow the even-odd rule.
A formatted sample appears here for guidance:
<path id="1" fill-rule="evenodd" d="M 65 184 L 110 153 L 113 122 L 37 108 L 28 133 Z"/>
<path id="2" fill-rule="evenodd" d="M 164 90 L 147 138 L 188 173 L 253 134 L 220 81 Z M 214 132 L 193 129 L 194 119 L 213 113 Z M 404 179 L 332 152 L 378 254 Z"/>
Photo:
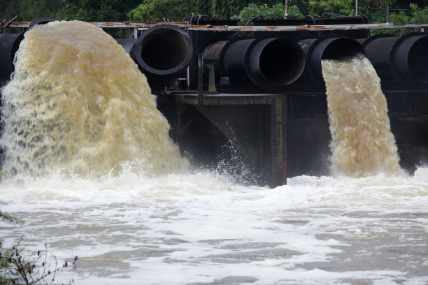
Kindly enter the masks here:
<path id="1" fill-rule="evenodd" d="M 369 59 L 323 60 L 335 174 L 402 174 L 387 101 Z"/>

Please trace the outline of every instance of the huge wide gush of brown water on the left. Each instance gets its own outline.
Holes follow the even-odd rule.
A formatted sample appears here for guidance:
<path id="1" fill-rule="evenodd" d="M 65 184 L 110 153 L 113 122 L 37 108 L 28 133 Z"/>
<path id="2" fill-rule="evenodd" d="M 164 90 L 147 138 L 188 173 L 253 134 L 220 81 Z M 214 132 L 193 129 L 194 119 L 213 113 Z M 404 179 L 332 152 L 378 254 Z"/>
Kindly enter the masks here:
<path id="1" fill-rule="evenodd" d="M 92 24 L 51 22 L 27 31 L 2 94 L 3 169 L 104 175 L 131 161 L 155 175 L 188 167 L 145 76 Z"/>

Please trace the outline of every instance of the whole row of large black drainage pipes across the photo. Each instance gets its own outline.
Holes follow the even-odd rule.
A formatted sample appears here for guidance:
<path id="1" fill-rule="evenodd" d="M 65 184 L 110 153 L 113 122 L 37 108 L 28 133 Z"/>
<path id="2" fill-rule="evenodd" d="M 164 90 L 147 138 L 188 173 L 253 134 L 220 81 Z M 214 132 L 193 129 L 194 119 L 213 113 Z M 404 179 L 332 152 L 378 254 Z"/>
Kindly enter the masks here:
<path id="1" fill-rule="evenodd" d="M 22 34 L 0 35 L 0 81 L 10 79 L 13 58 L 23 38 Z M 366 55 L 380 78 L 428 84 L 428 34 L 420 32 L 362 39 L 329 35 L 301 41 L 280 36 L 236 38 L 214 41 L 194 51 L 186 31 L 159 24 L 136 39 L 116 41 L 138 64 L 152 87 L 165 87 L 180 78 L 189 64 L 195 64 L 191 59 L 197 53 L 202 53 L 204 62 L 214 63 L 218 78 L 227 77 L 233 84 L 254 84 L 263 89 L 290 85 L 304 74 L 312 82 L 323 84 L 322 59 L 358 53 Z"/>

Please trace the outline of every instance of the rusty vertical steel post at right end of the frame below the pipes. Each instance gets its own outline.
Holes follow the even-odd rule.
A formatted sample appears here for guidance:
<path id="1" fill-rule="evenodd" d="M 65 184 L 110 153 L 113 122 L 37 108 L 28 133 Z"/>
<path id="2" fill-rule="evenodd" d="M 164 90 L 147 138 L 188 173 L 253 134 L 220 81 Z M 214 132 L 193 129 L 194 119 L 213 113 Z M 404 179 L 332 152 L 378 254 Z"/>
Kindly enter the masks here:
<path id="1" fill-rule="evenodd" d="M 287 95 L 271 101 L 271 187 L 287 184 Z"/>

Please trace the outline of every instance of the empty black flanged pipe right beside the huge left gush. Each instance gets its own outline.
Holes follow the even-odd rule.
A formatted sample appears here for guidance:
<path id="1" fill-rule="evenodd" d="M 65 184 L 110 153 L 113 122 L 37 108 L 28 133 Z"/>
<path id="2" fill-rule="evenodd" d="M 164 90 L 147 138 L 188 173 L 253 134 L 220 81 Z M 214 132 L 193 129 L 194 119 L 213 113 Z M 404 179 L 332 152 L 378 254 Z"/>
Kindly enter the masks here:
<path id="1" fill-rule="evenodd" d="M 122 45 L 125 50 L 129 43 Z M 192 57 L 192 41 L 182 29 L 160 24 L 143 31 L 129 54 L 148 78 L 150 87 L 162 88 L 186 70 Z"/>

